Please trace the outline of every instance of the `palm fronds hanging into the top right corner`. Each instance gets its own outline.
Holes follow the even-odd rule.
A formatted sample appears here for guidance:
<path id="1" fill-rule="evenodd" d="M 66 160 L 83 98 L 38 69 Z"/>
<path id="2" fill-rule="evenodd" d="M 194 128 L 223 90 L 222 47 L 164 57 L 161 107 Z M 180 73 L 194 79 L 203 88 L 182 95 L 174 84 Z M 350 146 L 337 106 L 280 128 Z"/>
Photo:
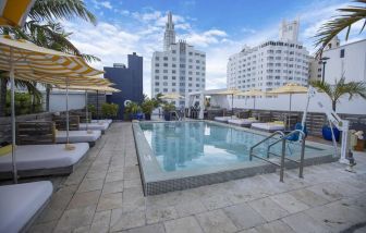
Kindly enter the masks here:
<path id="1" fill-rule="evenodd" d="M 364 21 L 364 25 L 361 28 L 362 33 L 366 25 L 366 0 L 355 0 L 354 2 L 361 3 L 362 5 L 354 5 L 338 9 L 338 11 L 344 13 L 333 20 L 325 23 L 317 32 L 318 39 L 315 42 L 315 47 L 319 47 L 317 54 L 321 54 L 324 48 L 330 42 L 330 40 L 346 28 L 345 40 L 349 39 L 351 27 L 354 23 L 358 21 Z"/>

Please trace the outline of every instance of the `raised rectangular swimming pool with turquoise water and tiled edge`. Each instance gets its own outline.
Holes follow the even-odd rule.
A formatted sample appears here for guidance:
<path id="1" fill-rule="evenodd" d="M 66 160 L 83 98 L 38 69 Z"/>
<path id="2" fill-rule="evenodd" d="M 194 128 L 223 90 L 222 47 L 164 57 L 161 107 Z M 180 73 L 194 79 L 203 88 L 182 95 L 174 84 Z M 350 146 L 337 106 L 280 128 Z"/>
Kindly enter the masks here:
<path id="1" fill-rule="evenodd" d="M 147 195 L 276 171 L 265 161 L 249 161 L 249 148 L 266 133 L 211 121 L 139 122 L 133 128 Z M 291 144 L 286 156 L 298 158 L 300 149 Z M 263 144 L 255 154 L 266 151 Z M 314 143 L 306 145 L 305 158 L 307 163 L 333 160 L 330 147 Z"/>

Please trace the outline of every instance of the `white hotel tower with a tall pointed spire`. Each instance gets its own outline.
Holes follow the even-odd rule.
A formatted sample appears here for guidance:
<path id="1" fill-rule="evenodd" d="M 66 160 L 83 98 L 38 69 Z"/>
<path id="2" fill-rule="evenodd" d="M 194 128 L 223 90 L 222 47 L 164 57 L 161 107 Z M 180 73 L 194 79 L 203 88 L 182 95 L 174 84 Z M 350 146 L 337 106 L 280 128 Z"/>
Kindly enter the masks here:
<path id="1" fill-rule="evenodd" d="M 168 14 L 163 51 L 156 51 L 151 59 L 151 97 L 157 94 L 188 93 L 205 89 L 206 53 L 180 40 L 175 42 L 172 14 Z M 173 101 L 176 107 L 184 106 L 185 99 Z"/>

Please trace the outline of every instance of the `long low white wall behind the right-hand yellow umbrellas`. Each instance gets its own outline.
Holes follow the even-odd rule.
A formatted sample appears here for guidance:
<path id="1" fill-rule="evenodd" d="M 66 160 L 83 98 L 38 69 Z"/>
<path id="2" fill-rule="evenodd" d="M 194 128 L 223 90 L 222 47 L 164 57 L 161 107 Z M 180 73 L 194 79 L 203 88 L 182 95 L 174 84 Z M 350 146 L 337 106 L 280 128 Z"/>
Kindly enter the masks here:
<path id="1" fill-rule="evenodd" d="M 330 100 L 324 94 L 319 94 L 319 99 L 312 99 L 308 111 L 310 112 L 321 112 L 320 108 L 317 106 L 316 100 L 324 102 L 326 106 L 331 108 Z M 231 98 L 229 98 L 229 103 L 231 105 Z M 256 109 L 266 110 L 289 110 L 290 96 L 281 95 L 277 98 L 256 98 Z M 292 110 L 293 111 L 304 111 L 306 106 L 306 94 L 295 94 L 292 95 Z M 253 98 L 245 99 L 234 99 L 234 108 L 248 108 L 253 109 Z M 366 100 L 362 98 L 353 98 L 349 101 L 347 97 L 342 98 L 340 103 L 337 105 L 338 113 L 350 113 L 350 114 L 366 114 Z"/>

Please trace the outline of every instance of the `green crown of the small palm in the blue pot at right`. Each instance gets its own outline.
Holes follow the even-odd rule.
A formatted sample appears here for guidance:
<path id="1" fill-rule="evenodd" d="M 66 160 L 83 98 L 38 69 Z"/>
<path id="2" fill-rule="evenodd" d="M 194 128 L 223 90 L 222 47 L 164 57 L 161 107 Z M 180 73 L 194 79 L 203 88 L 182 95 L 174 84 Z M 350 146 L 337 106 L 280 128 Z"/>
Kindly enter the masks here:
<path id="1" fill-rule="evenodd" d="M 322 81 L 312 82 L 312 86 L 318 88 L 320 91 L 327 94 L 332 103 L 332 110 L 335 112 L 337 103 L 344 95 L 349 95 L 349 100 L 353 97 L 362 97 L 366 99 L 366 83 L 365 82 L 350 82 L 345 83 L 344 77 L 339 82 L 335 81 L 334 85 L 330 85 Z"/>

